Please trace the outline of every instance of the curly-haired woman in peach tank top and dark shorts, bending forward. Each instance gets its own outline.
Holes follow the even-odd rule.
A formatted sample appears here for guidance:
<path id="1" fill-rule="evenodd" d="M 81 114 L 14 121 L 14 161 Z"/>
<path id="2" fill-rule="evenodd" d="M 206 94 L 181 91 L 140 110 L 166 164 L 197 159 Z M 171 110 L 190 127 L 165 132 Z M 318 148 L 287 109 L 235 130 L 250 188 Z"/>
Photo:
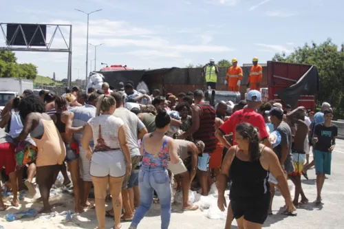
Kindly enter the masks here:
<path id="1" fill-rule="evenodd" d="M 23 98 L 19 104 L 19 114 L 24 120 L 24 127 L 16 140 L 25 140 L 30 134 L 36 143 L 36 182 L 43 200 L 41 212 L 47 213 L 52 212 L 49 204 L 50 189 L 65 160 L 65 144 L 54 121 L 44 112 L 44 104 L 38 96 Z"/>

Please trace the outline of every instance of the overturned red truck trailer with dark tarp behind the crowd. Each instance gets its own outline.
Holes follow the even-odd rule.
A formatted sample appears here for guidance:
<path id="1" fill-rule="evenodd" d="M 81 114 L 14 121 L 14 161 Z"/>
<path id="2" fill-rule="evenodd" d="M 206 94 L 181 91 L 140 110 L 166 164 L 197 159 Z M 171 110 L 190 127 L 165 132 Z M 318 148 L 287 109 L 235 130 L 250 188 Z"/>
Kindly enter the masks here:
<path id="1" fill-rule="evenodd" d="M 241 99 L 245 97 L 250 67 L 251 65 L 242 67 L 244 77 L 240 87 Z M 268 61 L 268 63 L 262 64 L 262 67 L 261 88 L 268 88 L 268 100 L 276 100 L 283 105 L 292 105 L 292 107 L 304 106 L 306 109 L 314 109 L 315 96 L 319 91 L 319 74 L 316 66 Z M 224 94 L 227 92 L 227 87 L 223 83 L 227 71 L 228 67 L 219 67 L 217 75 L 217 91 L 222 97 L 226 97 Z M 120 82 L 125 83 L 127 80 L 132 80 L 135 86 L 144 81 L 149 91 L 160 89 L 162 94 L 170 92 L 177 95 L 180 92 L 186 93 L 195 91 L 195 89 L 206 90 L 202 68 L 127 69 L 98 73 L 105 76 L 105 81 L 111 88 L 116 88 Z"/>

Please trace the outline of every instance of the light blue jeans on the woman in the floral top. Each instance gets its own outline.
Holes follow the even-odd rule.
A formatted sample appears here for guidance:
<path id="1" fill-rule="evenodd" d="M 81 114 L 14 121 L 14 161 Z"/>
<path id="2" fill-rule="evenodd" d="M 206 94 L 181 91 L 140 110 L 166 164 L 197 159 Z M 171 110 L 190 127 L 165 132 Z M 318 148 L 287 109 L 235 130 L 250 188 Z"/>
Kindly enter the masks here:
<path id="1" fill-rule="evenodd" d="M 171 219 L 171 182 L 166 168 L 143 166 L 138 174 L 140 190 L 140 206 L 135 212 L 131 226 L 138 226 L 153 203 L 154 190 L 158 194 L 161 205 L 161 228 L 169 228 Z"/>

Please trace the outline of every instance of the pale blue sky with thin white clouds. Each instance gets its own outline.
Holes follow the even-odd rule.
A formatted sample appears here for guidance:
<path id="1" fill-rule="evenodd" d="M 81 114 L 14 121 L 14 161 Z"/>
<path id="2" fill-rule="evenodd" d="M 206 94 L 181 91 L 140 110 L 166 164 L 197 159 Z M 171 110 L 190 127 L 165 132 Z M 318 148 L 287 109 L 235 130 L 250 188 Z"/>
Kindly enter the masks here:
<path id="1" fill-rule="evenodd" d="M 331 37 L 343 42 L 344 1 L 338 0 L 59 0 L 1 1 L 3 23 L 73 25 L 72 80 L 85 78 L 86 19 L 89 43 L 100 63 L 134 69 L 205 64 L 209 58 L 264 63 L 276 52 L 292 52 L 305 42 Z M 68 31 L 62 30 L 67 36 Z M 52 30 L 47 30 L 50 39 Z M 67 41 L 68 42 L 68 41 Z M 0 45 L 5 46 L 2 33 Z M 56 34 L 52 47 L 65 48 Z M 67 76 L 67 54 L 17 52 L 19 63 L 34 63 L 39 74 Z M 89 46 L 89 60 L 94 47 Z M 94 64 L 92 64 L 94 69 Z M 80 74 L 79 74 L 80 72 Z"/>

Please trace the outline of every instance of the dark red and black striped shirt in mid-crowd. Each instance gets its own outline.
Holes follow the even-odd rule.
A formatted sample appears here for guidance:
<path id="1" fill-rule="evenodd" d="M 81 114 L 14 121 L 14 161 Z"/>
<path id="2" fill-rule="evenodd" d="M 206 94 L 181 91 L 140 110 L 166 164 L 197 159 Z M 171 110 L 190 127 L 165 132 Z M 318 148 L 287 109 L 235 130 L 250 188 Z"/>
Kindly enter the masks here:
<path id="1" fill-rule="evenodd" d="M 193 133 L 194 140 L 201 140 L 206 145 L 204 153 L 213 153 L 216 149 L 215 138 L 215 109 L 206 102 L 198 105 L 201 109 L 200 127 Z"/>

